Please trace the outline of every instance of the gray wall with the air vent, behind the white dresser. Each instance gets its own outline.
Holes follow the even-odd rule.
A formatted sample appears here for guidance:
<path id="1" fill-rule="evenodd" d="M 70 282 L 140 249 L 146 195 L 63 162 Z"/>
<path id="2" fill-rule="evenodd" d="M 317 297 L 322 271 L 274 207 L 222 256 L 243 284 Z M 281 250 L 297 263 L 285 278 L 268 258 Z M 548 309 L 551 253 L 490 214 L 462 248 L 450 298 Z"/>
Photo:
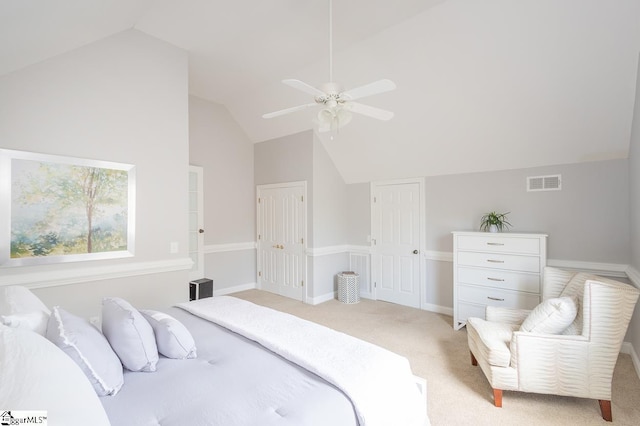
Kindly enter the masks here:
<path id="1" fill-rule="evenodd" d="M 562 175 L 562 190 L 527 192 L 526 177 Z M 368 245 L 368 184 L 348 185 L 349 244 Z M 425 180 L 426 248 L 435 256 L 453 250 L 451 231 L 478 230 L 491 210 L 511 212 L 512 232 L 549 235 L 548 258 L 628 264 L 629 166 L 626 160 L 538 167 L 498 172 L 432 176 Z M 427 260 L 425 300 L 452 308 L 450 261 Z"/>

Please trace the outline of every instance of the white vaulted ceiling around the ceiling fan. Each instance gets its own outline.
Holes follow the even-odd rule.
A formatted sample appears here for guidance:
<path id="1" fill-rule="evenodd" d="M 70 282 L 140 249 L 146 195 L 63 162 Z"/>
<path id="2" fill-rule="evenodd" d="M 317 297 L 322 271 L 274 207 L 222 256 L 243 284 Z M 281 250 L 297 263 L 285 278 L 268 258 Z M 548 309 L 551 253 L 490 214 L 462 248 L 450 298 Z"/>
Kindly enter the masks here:
<path id="1" fill-rule="evenodd" d="M 261 115 L 328 80 L 328 0 L 3 0 L 0 75 L 130 28 L 187 50 L 252 141 L 311 128 Z M 638 0 L 334 0 L 335 80 L 398 89 L 324 143 L 349 183 L 624 158 L 639 50 Z"/>

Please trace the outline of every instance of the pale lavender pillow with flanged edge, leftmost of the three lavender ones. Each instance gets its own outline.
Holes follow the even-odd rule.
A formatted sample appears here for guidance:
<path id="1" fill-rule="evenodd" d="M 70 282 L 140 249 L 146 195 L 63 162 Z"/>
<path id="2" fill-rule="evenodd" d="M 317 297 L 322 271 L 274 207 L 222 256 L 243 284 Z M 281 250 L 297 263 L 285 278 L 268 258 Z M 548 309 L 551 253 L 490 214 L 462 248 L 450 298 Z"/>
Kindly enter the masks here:
<path id="1" fill-rule="evenodd" d="M 47 339 L 80 366 L 98 395 L 118 393 L 124 383 L 122 364 L 89 321 L 56 306 L 49 317 Z"/>

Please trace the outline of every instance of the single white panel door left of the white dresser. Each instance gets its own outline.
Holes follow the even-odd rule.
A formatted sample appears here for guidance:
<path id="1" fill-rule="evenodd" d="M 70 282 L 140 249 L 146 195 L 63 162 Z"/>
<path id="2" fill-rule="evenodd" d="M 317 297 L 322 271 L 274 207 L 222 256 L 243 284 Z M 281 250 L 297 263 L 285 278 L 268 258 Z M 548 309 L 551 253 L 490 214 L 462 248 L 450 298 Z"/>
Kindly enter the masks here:
<path id="1" fill-rule="evenodd" d="M 376 298 L 420 307 L 423 282 L 420 182 L 372 184 Z"/>

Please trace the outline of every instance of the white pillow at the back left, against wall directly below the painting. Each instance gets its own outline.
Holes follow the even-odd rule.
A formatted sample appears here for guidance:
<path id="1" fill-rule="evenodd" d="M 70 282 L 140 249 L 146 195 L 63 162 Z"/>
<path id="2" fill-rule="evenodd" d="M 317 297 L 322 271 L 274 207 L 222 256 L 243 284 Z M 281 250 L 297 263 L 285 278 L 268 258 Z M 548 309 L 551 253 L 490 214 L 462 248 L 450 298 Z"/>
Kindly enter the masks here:
<path id="1" fill-rule="evenodd" d="M 27 317 L 23 314 L 34 315 Z M 0 316 L 2 323 L 11 327 L 29 328 L 44 336 L 51 311 L 31 290 L 21 286 L 0 286 Z"/>

